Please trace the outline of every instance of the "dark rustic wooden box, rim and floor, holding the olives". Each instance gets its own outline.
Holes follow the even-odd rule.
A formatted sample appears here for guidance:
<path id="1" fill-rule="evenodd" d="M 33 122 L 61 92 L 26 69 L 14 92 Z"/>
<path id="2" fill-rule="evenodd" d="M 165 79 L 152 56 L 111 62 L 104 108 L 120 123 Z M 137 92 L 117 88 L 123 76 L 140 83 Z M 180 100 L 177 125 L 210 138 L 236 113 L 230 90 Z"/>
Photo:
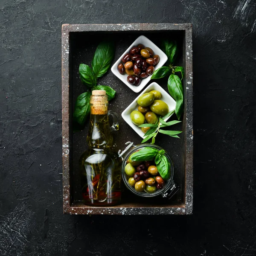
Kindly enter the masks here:
<path id="1" fill-rule="evenodd" d="M 175 196 L 142 199 L 128 192 L 122 195 L 122 204 L 114 207 L 90 207 L 81 203 L 79 191 L 78 160 L 87 148 L 87 127 L 73 134 L 72 113 L 76 97 L 86 88 L 79 78 L 79 64 L 89 64 L 95 49 L 104 38 L 116 42 L 114 61 L 140 35 L 145 35 L 157 45 L 162 39 L 178 41 L 180 47 L 177 64 L 184 67 L 184 115 L 177 129 L 183 129 L 181 140 L 166 138 L 161 134 L 157 144 L 165 148 L 172 157 L 174 180 L 181 186 Z M 113 63 L 114 63 L 113 61 Z M 193 87 L 192 87 L 192 25 L 191 24 L 79 24 L 62 26 L 62 136 L 63 136 L 63 209 L 66 214 L 111 214 L 111 215 L 157 215 L 192 214 L 193 198 Z M 167 90 L 167 80 L 156 80 Z M 98 84 L 111 85 L 117 93 L 109 108 L 120 116 L 122 111 L 138 95 L 116 78 L 111 71 Z M 148 83 L 150 84 L 150 82 Z M 171 120 L 171 119 L 170 119 Z M 141 138 L 120 119 L 120 130 L 116 132 L 115 148 L 125 148 L 125 142 L 140 144 Z"/>

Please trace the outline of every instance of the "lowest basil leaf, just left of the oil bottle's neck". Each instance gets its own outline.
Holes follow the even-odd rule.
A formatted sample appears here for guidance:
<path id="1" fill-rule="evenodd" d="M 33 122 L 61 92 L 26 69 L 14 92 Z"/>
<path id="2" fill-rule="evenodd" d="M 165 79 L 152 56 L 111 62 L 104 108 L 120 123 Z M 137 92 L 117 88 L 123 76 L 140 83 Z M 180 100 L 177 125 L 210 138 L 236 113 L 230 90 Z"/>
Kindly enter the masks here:
<path id="1" fill-rule="evenodd" d="M 73 120 L 83 125 L 90 113 L 90 92 L 80 94 L 76 99 Z"/>

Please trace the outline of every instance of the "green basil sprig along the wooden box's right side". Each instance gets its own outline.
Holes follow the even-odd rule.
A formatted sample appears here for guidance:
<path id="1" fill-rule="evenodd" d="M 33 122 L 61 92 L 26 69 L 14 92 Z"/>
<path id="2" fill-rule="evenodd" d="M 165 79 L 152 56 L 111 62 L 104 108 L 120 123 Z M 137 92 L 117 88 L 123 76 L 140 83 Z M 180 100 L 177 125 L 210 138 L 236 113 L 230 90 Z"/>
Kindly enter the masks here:
<path id="1" fill-rule="evenodd" d="M 165 76 L 169 76 L 167 86 L 170 95 L 176 101 L 175 113 L 180 120 L 180 117 L 183 113 L 183 86 L 181 80 L 184 77 L 184 69 L 183 67 L 173 66 L 177 57 L 177 43 L 176 41 L 168 41 L 164 40 L 162 44 L 162 50 L 166 53 L 168 60 L 166 62 L 167 66 L 160 67 L 159 69 L 155 70 L 151 76 L 151 79 L 160 79 Z M 176 74 L 179 74 L 177 76 Z"/>

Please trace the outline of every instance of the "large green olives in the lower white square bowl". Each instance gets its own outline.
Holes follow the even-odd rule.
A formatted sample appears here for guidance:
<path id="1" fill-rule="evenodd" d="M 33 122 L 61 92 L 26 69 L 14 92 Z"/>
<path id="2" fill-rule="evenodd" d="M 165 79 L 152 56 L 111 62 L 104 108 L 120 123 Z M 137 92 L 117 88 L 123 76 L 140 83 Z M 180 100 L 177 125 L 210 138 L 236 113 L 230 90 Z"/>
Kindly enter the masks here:
<path id="1" fill-rule="evenodd" d="M 131 76 L 132 77 L 132 76 Z M 131 112 L 131 121 L 135 125 L 142 125 L 144 123 L 157 124 L 159 116 L 164 116 L 169 112 L 166 102 L 161 100 L 162 94 L 157 90 L 151 90 L 144 93 L 137 100 L 138 110 Z M 146 133 L 149 127 L 142 127 L 141 131 Z"/>

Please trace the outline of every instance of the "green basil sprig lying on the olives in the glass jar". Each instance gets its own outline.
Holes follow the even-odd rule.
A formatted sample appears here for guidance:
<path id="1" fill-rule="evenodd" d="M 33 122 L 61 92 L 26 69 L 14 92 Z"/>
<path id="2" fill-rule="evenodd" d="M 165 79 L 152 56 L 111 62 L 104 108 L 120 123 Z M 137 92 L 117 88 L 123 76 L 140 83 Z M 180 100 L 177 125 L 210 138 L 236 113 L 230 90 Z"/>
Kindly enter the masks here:
<path id="1" fill-rule="evenodd" d="M 178 121 L 177 121 L 178 122 Z M 152 161 L 154 160 L 157 165 L 157 170 L 164 180 L 168 180 L 171 175 L 171 164 L 165 156 L 163 149 L 157 150 L 156 148 L 145 147 L 140 151 L 135 152 L 132 161 Z"/>

